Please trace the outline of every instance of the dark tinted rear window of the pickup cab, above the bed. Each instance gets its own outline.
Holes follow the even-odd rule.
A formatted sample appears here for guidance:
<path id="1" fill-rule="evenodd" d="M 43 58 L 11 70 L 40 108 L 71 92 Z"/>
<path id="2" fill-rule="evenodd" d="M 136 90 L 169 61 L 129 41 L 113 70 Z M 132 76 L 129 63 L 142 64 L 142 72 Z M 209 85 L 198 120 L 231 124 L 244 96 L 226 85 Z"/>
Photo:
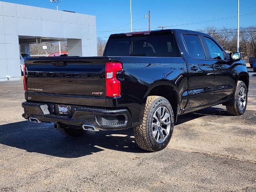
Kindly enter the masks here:
<path id="1" fill-rule="evenodd" d="M 173 35 L 112 38 L 105 56 L 180 57 Z"/>

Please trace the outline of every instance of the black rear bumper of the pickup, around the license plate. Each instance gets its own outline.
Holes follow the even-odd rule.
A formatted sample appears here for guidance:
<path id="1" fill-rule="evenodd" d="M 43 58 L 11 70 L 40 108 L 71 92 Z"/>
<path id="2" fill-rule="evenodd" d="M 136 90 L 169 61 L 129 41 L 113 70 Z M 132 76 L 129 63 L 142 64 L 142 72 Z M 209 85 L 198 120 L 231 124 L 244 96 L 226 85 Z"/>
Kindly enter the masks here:
<path id="1" fill-rule="evenodd" d="M 40 122 L 62 122 L 81 126 L 93 125 L 99 130 L 122 130 L 131 126 L 131 115 L 127 109 L 106 109 L 71 106 L 71 117 L 54 114 L 54 104 L 23 102 L 25 119 L 37 118 Z"/>

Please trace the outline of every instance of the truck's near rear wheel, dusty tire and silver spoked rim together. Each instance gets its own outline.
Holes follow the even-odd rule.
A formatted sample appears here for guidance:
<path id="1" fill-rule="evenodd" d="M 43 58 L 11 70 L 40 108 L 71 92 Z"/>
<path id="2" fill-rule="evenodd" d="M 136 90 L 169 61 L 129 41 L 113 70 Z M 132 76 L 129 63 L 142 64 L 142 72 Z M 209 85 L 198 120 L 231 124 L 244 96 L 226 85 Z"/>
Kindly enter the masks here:
<path id="1" fill-rule="evenodd" d="M 148 96 L 142 124 L 133 128 L 138 146 L 148 151 L 164 149 L 172 137 L 174 114 L 164 97 Z"/>

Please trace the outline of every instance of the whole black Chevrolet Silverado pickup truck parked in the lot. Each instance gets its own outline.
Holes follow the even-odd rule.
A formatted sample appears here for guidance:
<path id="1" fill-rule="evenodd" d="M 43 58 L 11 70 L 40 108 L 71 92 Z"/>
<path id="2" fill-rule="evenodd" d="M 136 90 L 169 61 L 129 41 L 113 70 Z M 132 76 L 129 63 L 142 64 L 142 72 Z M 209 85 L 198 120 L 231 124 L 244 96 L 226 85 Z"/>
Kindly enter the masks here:
<path id="1" fill-rule="evenodd" d="M 64 135 L 133 128 L 140 148 L 159 151 L 179 115 L 223 104 L 246 110 L 249 76 L 239 53 L 189 30 L 113 34 L 102 57 L 27 59 L 22 116 Z"/>

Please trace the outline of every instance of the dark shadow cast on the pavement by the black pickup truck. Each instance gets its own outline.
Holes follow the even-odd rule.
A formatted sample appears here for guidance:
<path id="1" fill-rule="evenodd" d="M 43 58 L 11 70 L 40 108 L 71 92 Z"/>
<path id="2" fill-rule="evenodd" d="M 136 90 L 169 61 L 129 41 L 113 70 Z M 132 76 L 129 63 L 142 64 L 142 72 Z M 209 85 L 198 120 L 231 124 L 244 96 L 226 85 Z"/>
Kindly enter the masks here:
<path id="1" fill-rule="evenodd" d="M 177 124 L 212 115 L 226 116 L 228 114 L 226 110 L 211 107 L 182 115 Z M 1 125 L 0 132 L 0 144 L 62 158 L 78 158 L 105 149 L 146 153 L 136 145 L 132 129 L 87 132 L 80 138 L 70 138 L 57 132 L 53 124 L 22 121 Z"/>

